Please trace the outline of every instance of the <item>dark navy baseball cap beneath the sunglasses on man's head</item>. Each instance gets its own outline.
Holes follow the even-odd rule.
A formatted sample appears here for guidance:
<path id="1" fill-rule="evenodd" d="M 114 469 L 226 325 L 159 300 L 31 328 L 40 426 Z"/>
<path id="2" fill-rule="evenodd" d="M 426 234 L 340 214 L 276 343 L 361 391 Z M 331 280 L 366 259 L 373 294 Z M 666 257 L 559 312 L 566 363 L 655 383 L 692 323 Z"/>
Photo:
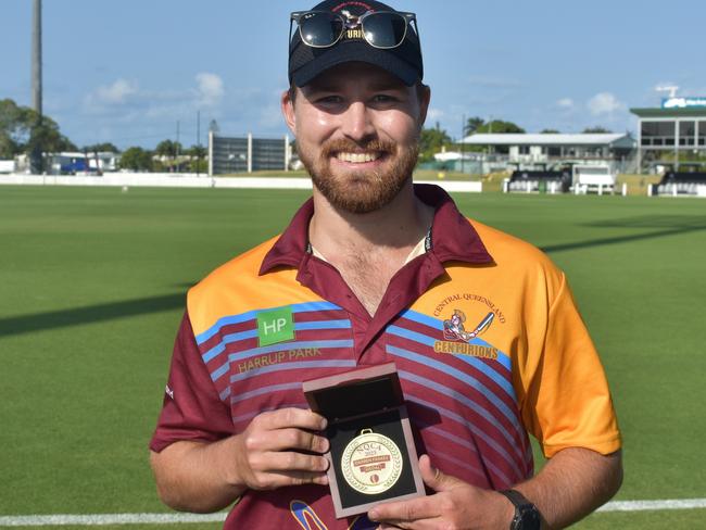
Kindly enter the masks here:
<path id="1" fill-rule="evenodd" d="M 357 17 L 369 11 L 396 12 L 389 5 L 373 0 L 325 0 L 312 11 L 329 11 L 346 17 Z M 368 45 L 361 36 L 361 31 L 344 31 L 343 37 L 333 46 L 313 48 L 302 41 L 297 30 L 293 31 L 289 42 L 289 83 L 303 87 L 328 68 L 351 61 L 379 66 L 407 86 L 414 85 L 424 77 L 421 48 L 416 26 L 407 29 L 400 46 L 387 49 Z"/>

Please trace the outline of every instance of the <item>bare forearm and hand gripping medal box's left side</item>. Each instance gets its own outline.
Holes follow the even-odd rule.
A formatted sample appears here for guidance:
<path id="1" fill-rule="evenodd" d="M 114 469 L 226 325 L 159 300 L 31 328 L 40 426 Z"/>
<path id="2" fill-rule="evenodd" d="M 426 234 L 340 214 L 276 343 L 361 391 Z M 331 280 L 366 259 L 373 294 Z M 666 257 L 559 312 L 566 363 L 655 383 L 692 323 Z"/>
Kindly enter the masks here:
<path id="1" fill-rule="evenodd" d="M 248 428 L 218 442 L 184 440 L 152 453 L 162 501 L 175 509 L 215 512 L 248 489 L 326 484 L 326 419 L 302 408 L 255 416 Z"/>

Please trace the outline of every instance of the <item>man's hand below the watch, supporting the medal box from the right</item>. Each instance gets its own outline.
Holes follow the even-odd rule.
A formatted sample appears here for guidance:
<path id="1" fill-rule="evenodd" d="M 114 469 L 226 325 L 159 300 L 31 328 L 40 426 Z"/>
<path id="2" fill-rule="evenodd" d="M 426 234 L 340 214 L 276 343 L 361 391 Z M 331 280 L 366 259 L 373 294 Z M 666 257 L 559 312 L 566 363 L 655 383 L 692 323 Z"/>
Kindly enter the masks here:
<path id="1" fill-rule="evenodd" d="M 431 467 L 419 458 L 421 478 L 433 495 L 376 506 L 368 518 L 380 529 L 502 529 L 509 528 L 515 508 L 497 492 L 476 488 Z"/>

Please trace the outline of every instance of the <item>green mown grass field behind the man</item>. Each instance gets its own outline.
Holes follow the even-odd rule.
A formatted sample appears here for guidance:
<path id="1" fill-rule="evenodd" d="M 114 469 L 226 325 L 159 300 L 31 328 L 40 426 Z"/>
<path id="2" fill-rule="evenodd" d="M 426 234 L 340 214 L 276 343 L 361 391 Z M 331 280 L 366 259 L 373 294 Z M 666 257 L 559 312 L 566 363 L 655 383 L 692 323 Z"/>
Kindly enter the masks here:
<path id="1" fill-rule="evenodd" d="M 166 512 L 147 443 L 185 291 L 277 234 L 305 197 L 0 187 L 0 516 Z M 706 497 L 706 201 L 456 199 L 567 270 L 623 430 L 617 499 Z M 596 514 L 577 528 L 703 528 L 705 516 Z"/>

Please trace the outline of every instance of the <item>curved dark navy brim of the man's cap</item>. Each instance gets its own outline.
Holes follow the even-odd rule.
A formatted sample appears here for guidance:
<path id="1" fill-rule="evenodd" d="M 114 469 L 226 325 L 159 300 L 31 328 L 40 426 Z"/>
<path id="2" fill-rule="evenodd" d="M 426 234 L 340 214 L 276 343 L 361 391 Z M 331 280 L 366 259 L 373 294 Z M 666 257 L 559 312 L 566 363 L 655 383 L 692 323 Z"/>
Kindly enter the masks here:
<path id="1" fill-rule="evenodd" d="M 300 45 L 305 46 L 305 45 Z M 315 61 L 310 61 L 292 74 L 291 80 L 298 87 L 310 84 L 327 70 L 349 62 L 361 62 L 379 66 L 411 87 L 419 80 L 417 70 L 389 50 L 373 48 L 367 42 L 350 41 L 331 48 L 312 50 Z"/>

